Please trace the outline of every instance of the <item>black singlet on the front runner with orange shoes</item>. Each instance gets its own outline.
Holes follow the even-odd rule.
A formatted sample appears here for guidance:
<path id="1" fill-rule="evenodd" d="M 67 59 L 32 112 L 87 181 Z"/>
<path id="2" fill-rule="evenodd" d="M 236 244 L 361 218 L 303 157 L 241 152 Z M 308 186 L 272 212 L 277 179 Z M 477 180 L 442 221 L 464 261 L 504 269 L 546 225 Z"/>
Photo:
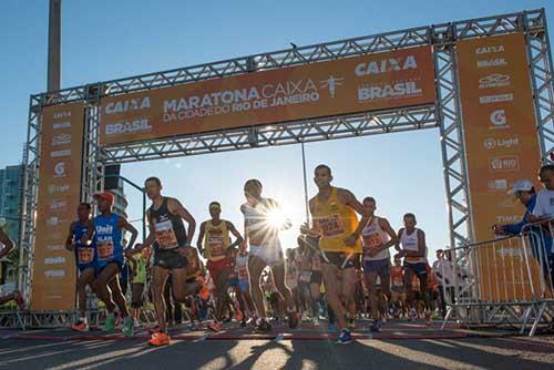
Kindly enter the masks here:
<path id="1" fill-rule="evenodd" d="M 185 246 L 185 225 L 181 216 L 170 213 L 166 197 L 163 198 L 160 208 L 154 209 L 154 206 L 151 206 L 148 215 L 156 235 L 156 241 L 153 244 L 154 250 L 174 249 Z"/>

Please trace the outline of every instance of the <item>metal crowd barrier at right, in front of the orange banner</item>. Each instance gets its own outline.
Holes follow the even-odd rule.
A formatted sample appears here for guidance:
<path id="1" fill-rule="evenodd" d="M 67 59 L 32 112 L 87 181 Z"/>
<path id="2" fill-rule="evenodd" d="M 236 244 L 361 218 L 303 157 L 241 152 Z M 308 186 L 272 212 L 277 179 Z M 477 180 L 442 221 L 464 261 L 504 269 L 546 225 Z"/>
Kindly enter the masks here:
<path id="1" fill-rule="evenodd" d="M 449 249 L 453 297 L 443 322 L 510 323 L 534 336 L 554 318 L 552 236 L 554 219 L 529 224 L 519 235 Z M 444 266 L 444 265 L 443 265 Z M 443 269 L 444 273 L 444 269 Z"/>

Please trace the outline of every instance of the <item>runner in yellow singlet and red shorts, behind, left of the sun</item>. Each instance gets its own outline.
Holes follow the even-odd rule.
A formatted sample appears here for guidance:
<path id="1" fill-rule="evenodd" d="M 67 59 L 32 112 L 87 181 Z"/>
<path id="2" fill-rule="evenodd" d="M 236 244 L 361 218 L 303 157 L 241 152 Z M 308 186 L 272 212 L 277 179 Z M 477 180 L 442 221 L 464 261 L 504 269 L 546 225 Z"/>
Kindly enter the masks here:
<path id="1" fill-rule="evenodd" d="M 215 317 L 217 321 L 223 321 L 224 309 L 229 305 L 227 289 L 229 287 L 229 276 L 233 271 L 230 253 L 240 243 L 243 236 L 237 232 L 232 222 L 222 219 L 222 206 L 217 202 L 209 204 L 209 215 L 212 219 L 201 224 L 201 233 L 196 246 L 201 254 L 207 259 L 207 269 L 214 279 L 216 287 L 215 295 Z M 235 236 L 235 241 L 230 243 L 230 235 Z"/>

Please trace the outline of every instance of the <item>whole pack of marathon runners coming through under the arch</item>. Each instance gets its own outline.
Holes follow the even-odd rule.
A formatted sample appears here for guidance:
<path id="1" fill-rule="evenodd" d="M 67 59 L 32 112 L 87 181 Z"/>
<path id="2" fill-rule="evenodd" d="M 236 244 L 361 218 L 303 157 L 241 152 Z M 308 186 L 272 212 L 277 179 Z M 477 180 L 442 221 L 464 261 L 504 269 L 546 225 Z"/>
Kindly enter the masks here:
<path id="1" fill-rule="evenodd" d="M 425 236 L 416 227 L 416 216 L 404 215 L 404 227 L 396 233 L 386 218 L 376 215 L 377 203 L 373 198 L 367 197 L 360 203 L 351 192 L 334 187 L 329 166 L 317 166 L 314 179 L 318 194 L 309 202 L 312 222 L 300 229 L 299 255 L 304 258 L 305 269 L 298 279 L 304 279 L 302 289 L 309 290 L 309 305 L 312 308 L 320 300 L 321 286 L 325 287 L 329 319 L 340 330 L 338 342 L 351 341 L 350 328 L 356 317 L 355 298 L 360 271 L 363 271 L 369 290 L 373 318 L 371 330 L 378 331 L 379 318 L 384 317 L 380 304 L 383 300 L 393 304 L 394 294 L 403 294 L 398 292 L 396 286 L 398 271 L 394 273 L 392 268 L 391 274 L 391 247 L 397 250 L 397 269 L 400 259 L 404 259 L 401 274 L 408 304 L 413 301 L 411 286 L 417 280 L 425 308 L 430 307 Z M 192 321 L 202 316 L 208 301 L 213 301 L 213 317 L 208 327 L 214 331 L 222 329 L 220 322 L 233 310 L 238 314 L 236 318 L 243 326 L 249 316 L 257 332 L 271 331 L 261 287 L 261 280 L 267 282 L 269 279 L 271 295 L 275 301 L 283 302 L 283 314 L 289 328 L 297 328 L 301 316 L 295 296 L 286 284 L 287 264 L 279 239 L 279 232 L 290 228 L 291 223 L 287 218 L 275 220 L 274 215 L 281 213 L 280 206 L 277 201 L 263 196 L 261 183 L 249 179 L 244 185 L 246 202 L 240 206 L 244 215 L 243 234 L 233 223 L 220 217 L 220 204 L 212 202 L 208 206 L 211 219 L 201 224 L 196 248 L 192 246 L 195 218 L 179 201 L 163 196 L 162 188 L 157 177 L 145 181 L 146 194 L 152 201 L 146 213 L 150 233 L 138 244 L 135 244 L 136 229 L 125 218 L 112 213 L 114 197 L 111 193 L 94 196 L 100 213 L 94 218 L 91 217 L 90 204 L 82 203 L 79 206 L 79 219 L 71 224 L 66 239 L 66 248 L 75 253 L 80 270 L 76 284 L 80 319 L 73 328 L 88 330 L 85 308 L 89 286 L 107 310 L 102 329 L 114 330 L 114 311 L 117 307 L 123 319 L 123 333 L 133 335 L 133 318 L 122 294 L 119 273 L 125 259 L 134 267 L 133 270 L 140 265 L 143 267 L 141 271 L 144 271 L 144 265 L 148 264 L 144 260 L 144 256 L 148 256 L 145 254 L 147 250 L 152 250 L 150 284 L 158 322 L 152 330 L 151 345 L 163 346 L 171 341 L 167 332 L 167 321 L 171 320 L 167 306 L 171 300 L 176 305 L 185 304 L 189 308 Z M 124 230 L 131 233 L 126 248 L 122 245 Z M 205 267 L 198 253 L 207 260 Z M 133 276 L 136 276 L 135 271 Z M 389 288 L 391 277 L 392 291 Z M 138 287 L 141 284 L 144 287 L 143 279 Z M 137 294 L 135 288 L 132 292 L 134 310 L 141 305 L 142 291 L 136 290 Z M 237 307 L 234 309 L 232 307 L 235 304 Z M 427 310 L 428 322 L 429 315 Z M 133 316 L 136 317 L 136 312 Z"/>

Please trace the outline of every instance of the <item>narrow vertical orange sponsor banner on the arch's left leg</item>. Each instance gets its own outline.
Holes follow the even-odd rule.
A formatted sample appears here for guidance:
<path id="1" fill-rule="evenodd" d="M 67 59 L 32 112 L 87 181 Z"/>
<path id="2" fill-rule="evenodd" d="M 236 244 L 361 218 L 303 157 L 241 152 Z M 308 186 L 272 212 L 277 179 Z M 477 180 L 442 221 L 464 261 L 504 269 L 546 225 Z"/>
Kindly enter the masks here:
<path id="1" fill-rule="evenodd" d="M 83 110 L 72 103 L 42 111 L 32 310 L 75 306 L 75 260 L 63 246 L 81 195 Z"/>

